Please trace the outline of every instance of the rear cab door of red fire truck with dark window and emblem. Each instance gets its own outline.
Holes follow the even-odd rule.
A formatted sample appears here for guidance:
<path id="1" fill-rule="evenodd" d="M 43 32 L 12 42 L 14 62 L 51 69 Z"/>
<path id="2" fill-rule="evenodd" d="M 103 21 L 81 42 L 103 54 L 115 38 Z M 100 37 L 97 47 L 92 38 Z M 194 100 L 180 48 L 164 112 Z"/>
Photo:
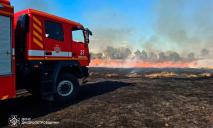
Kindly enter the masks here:
<path id="1" fill-rule="evenodd" d="M 71 56 L 71 46 L 64 36 L 64 27 L 64 24 L 55 21 L 45 21 L 45 59 L 66 60 Z"/>

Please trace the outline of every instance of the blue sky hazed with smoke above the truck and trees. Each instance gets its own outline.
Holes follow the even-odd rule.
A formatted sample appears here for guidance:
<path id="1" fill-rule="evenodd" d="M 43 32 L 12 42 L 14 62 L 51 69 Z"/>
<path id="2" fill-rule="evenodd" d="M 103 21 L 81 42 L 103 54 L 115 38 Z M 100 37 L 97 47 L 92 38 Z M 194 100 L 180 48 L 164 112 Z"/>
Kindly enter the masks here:
<path id="1" fill-rule="evenodd" d="M 80 22 L 90 47 L 200 52 L 213 50 L 212 0 L 11 0 L 15 11 L 34 8 Z M 212 28 L 212 29 L 211 29 Z"/>

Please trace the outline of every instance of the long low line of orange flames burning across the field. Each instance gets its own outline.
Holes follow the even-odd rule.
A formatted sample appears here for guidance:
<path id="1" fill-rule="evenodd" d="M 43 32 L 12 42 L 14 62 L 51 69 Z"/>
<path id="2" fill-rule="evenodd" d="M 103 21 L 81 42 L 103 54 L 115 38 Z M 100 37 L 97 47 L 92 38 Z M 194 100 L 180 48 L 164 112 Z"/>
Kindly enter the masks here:
<path id="1" fill-rule="evenodd" d="M 197 61 L 191 62 L 151 62 L 143 60 L 116 60 L 116 59 L 92 59 L 90 67 L 108 67 L 108 68 L 209 68 L 213 69 L 213 66 L 203 67 Z"/>

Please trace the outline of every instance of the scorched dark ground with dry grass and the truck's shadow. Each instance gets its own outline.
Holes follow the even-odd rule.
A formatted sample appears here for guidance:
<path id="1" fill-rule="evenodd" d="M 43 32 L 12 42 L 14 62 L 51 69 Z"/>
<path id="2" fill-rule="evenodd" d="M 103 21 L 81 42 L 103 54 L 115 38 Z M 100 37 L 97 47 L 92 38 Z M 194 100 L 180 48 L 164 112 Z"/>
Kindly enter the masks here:
<path id="1" fill-rule="evenodd" d="M 0 127 L 11 115 L 57 125 L 23 127 L 213 128 L 211 70 L 91 68 L 78 98 L 57 106 L 24 96 L 0 102 Z"/>

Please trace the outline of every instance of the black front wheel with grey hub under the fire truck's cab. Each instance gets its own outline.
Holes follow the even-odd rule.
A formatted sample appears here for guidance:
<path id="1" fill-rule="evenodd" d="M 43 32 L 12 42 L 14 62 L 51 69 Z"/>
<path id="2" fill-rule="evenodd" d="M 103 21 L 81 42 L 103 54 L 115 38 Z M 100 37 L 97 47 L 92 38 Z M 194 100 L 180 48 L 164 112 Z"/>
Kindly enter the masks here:
<path id="1" fill-rule="evenodd" d="M 59 76 L 56 84 L 55 101 L 59 104 L 70 103 L 79 92 L 79 82 L 76 77 L 70 73 L 64 73 Z"/>

